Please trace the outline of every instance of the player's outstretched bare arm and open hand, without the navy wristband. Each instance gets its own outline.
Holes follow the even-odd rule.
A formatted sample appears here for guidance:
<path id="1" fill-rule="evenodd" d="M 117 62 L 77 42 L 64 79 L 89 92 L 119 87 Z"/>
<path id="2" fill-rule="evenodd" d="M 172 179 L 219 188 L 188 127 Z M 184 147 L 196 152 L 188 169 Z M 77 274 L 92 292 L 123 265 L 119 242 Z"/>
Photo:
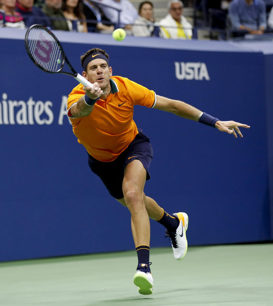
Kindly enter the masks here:
<path id="1" fill-rule="evenodd" d="M 197 108 L 178 100 L 172 100 L 160 95 L 156 95 L 156 105 L 154 108 L 159 110 L 164 110 L 175 115 L 181 116 L 183 118 L 199 121 L 203 112 L 198 110 Z M 242 137 L 242 133 L 239 130 L 239 127 L 249 129 L 250 126 L 246 124 L 242 124 L 235 121 L 216 121 L 215 127 L 221 132 L 227 132 L 229 134 L 233 134 L 235 138 L 237 138 L 237 134 Z"/>

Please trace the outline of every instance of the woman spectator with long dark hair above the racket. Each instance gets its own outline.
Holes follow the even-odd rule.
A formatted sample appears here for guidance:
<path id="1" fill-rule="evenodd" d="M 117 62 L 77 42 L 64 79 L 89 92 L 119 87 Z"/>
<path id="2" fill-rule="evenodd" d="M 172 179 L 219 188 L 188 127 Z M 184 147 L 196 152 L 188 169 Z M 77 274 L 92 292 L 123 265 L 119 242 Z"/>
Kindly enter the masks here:
<path id="1" fill-rule="evenodd" d="M 82 0 L 63 0 L 62 10 L 69 31 L 88 32 Z"/>

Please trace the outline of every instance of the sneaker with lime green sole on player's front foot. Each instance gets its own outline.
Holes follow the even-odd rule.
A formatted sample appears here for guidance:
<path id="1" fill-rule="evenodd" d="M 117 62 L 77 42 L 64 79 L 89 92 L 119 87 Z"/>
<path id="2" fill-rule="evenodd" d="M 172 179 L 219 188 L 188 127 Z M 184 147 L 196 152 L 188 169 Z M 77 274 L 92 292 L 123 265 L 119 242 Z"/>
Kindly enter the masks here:
<path id="1" fill-rule="evenodd" d="M 153 293 L 153 275 L 149 267 L 151 264 L 138 264 L 136 274 L 134 275 L 134 284 L 138 286 L 138 292 L 140 294 L 147 295 Z"/>

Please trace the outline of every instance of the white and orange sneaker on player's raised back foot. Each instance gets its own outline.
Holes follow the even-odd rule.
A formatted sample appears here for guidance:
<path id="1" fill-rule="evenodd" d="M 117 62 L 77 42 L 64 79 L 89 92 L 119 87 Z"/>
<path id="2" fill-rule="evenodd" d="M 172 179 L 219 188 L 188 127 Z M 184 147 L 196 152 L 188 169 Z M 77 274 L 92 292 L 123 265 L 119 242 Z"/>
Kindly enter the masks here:
<path id="1" fill-rule="evenodd" d="M 178 219 L 179 225 L 175 232 L 170 233 L 166 230 L 166 237 L 170 237 L 171 245 L 174 251 L 174 258 L 181 260 L 187 252 L 188 241 L 186 238 L 186 230 L 188 229 L 189 217 L 185 212 L 178 212 L 172 214 L 175 218 Z"/>

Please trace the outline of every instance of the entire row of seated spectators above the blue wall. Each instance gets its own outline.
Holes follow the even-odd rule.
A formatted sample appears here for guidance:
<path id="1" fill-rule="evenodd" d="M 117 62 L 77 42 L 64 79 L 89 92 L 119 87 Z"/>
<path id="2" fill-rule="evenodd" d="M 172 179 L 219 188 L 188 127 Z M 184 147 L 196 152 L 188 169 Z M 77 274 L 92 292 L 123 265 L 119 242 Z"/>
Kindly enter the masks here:
<path id="1" fill-rule="evenodd" d="M 225 29 L 228 19 L 235 36 L 272 32 L 273 7 L 267 12 L 268 1 L 273 6 L 273 0 L 206 0 L 211 28 Z M 53 30 L 106 33 L 120 27 L 127 35 L 192 39 L 183 8 L 180 0 L 170 0 L 167 16 L 155 21 L 150 1 L 140 3 L 137 11 L 129 0 L 0 0 L 0 27 L 42 24 Z"/>

